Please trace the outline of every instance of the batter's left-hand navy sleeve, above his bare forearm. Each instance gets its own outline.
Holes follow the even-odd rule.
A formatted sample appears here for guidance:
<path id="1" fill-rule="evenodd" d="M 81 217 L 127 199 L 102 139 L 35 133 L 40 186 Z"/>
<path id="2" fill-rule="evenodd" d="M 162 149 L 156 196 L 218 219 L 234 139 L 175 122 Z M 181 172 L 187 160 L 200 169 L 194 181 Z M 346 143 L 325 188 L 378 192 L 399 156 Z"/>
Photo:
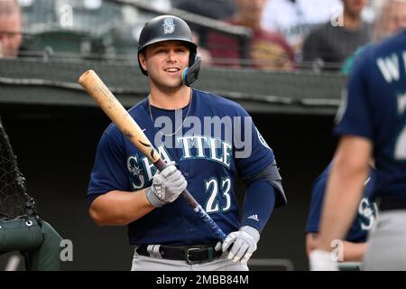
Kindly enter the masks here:
<path id="1" fill-rule="evenodd" d="M 125 155 L 119 140 L 104 133 L 97 145 L 95 165 L 90 173 L 88 184 L 88 206 L 97 195 L 108 191 L 129 191 L 129 181 L 125 178 Z"/>

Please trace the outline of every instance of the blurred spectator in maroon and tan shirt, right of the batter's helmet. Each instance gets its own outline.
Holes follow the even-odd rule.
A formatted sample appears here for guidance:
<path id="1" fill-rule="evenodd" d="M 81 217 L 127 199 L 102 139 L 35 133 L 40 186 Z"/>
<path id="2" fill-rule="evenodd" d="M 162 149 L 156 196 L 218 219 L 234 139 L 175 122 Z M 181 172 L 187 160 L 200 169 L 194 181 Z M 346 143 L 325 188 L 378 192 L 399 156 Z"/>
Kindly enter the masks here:
<path id="1" fill-rule="evenodd" d="M 245 53 L 237 39 L 221 33 L 208 35 L 208 50 L 214 65 L 253 67 L 263 70 L 291 70 L 294 53 L 278 33 L 261 28 L 261 15 L 266 0 L 235 0 L 237 12 L 227 23 L 243 25 L 253 30 L 249 51 Z M 249 57 L 245 60 L 245 55 Z M 246 62 L 246 63 L 245 63 Z"/>

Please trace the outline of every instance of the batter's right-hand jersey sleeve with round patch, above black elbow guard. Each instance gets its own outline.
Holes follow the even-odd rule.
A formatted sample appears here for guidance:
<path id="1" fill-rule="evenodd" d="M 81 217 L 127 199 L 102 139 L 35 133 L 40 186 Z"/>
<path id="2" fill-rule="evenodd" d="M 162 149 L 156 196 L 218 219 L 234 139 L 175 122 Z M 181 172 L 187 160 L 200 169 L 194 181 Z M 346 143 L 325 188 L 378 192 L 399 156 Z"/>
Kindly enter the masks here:
<path id="1" fill-rule="evenodd" d="M 235 129 L 235 167 L 240 176 L 246 179 L 261 172 L 272 164 L 275 158 L 252 118 L 244 108 L 241 109 L 241 132 Z"/>

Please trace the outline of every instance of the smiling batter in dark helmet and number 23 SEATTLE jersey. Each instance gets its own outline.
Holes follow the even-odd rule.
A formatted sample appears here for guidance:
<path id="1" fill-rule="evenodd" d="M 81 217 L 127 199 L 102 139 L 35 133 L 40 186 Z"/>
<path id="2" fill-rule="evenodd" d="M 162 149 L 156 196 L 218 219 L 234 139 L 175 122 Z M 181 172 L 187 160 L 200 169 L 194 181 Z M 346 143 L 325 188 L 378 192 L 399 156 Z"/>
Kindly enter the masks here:
<path id="1" fill-rule="evenodd" d="M 272 149 L 243 107 L 190 88 L 200 60 L 180 18 L 162 15 L 145 24 L 138 61 L 151 93 L 129 114 L 169 165 L 157 172 L 108 126 L 90 176 L 90 216 L 98 225 L 128 225 L 132 270 L 247 270 L 273 208 L 286 203 Z M 224 129 L 208 119 L 224 120 Z M 241 217 L 237 175 L 246 183 Z M 223 243 L 179 197 L 185 188 L 226 233 Z"/>

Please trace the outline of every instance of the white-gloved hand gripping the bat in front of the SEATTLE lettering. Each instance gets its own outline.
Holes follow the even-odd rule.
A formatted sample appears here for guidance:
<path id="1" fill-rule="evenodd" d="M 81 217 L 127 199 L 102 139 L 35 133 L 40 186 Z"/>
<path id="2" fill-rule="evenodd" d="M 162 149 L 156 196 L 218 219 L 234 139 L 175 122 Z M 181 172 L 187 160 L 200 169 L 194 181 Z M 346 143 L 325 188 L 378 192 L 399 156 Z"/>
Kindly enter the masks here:
<path id="1" fill-rule="evenodd" d="M 180 193 L 186 189 L 186 182 L 175 162 L 168 163 L 162 172 L 156 172 L 152 179 L 152 186 L 146 189 L 145 196 L 154 207 L 176 200 Z"/>

